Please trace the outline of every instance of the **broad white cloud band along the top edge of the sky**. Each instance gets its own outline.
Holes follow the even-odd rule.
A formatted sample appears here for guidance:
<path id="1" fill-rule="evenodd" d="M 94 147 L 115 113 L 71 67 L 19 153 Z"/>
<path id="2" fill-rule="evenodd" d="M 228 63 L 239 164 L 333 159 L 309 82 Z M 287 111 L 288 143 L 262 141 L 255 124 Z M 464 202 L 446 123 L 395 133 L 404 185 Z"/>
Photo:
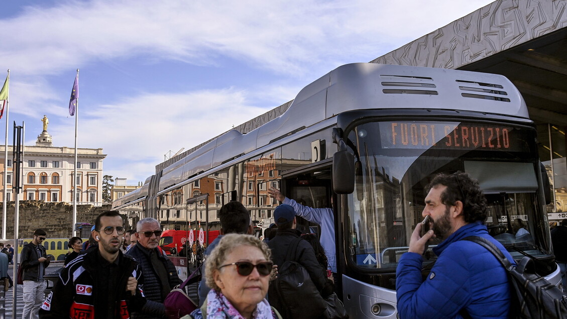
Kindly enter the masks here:
<path id="1" fill-rule="evenodd" d="M 306 64 L 371 60 L 378 57 L 374 52 L 387 53 L 380 45 L 395 49 L 396 39 L 416 39 L 486 3 L 70 1 L 28 7 L 1 20 L 0 61 L 18 65 L 22 73 L 57 74 L 98 58 L 146 56 L 209 65 L 222 55 L 302 74 Z"/>

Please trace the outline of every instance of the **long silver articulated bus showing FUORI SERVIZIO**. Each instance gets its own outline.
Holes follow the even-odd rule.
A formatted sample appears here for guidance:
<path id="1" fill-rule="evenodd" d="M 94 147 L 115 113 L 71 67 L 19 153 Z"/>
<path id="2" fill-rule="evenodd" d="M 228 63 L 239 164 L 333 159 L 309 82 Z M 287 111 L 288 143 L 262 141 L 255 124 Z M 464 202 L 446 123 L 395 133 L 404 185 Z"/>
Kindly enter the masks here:
<path id="1" fill-rule="evenodd" d="M 162 223 L 175 214 L 181 229 L 212 229 L 207 221 L 227 200 L 269 221 L 278 204 L 270 186 L 310 207 L 334 203 L 336 283 L 345 307 L 352 318 L 395 318 L 397 261 L 437 173 L 478 179 L 490 234 L 514 258 L 537 259 L 539 274 L 559 284 L 536 137 L 522 96 L 501 75 L 348 64 L 306 86 L 281 116 L 214 138 L 113 209 Z M 529 234 L 515 237 L 518 219 Z M 435 256 L 429 250 L 425 258 L 424 275 Z"/>

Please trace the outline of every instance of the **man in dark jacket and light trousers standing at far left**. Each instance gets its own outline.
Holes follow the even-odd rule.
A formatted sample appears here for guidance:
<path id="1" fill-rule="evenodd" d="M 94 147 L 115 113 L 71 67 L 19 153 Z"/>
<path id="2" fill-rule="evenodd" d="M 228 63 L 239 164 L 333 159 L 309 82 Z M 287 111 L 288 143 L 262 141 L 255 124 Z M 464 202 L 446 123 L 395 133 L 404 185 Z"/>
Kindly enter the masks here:
<path id="1" fill-rule="evenodd" d="M 24 282 L 24 309 L 22 317 L 39 318 L 37 312 L 44 299 L 44 289 L 46 288 L 45 268 L 49 266 L 50 259 L 45 254 L 45 247 L 41 245 L 47 234 L 43 229 L 36 229 L 33 232 L 33 239 L 22 249 L 22 280 Z"/>

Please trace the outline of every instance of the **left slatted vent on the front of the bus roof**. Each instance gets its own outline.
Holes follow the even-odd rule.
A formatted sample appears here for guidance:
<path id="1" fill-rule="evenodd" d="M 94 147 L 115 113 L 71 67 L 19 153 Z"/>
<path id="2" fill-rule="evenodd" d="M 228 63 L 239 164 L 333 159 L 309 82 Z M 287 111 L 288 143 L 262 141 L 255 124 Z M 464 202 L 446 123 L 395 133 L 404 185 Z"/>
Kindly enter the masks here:
<path id="1" fill-rule="evenodd" d="M 437 87 L 433 83 L 433 78 L 414 77 L 411 75 L 380 75 L 380 78 L 384 80 L 381 82 L 382 86 L 392 87 L 392 89 L 383 89 L 382 93 L 384 94 L 438 94 L 437 91 L 431 90 Z"/>

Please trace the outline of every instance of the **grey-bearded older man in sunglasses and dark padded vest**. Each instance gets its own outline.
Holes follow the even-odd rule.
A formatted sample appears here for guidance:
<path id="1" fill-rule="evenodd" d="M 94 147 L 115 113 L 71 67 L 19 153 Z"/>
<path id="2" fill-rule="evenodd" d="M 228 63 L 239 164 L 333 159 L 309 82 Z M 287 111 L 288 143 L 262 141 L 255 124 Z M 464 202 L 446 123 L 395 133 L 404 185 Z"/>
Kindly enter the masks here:
<path id="1" fill-rule="evenodd" d="M 158 246 L 162 236 L 159 222 L 151 217 L 141 219 L 136 230 L 138 242 L 128 250 L 128 255 L 134 257 L 142 268 L 142 289 L 147 303 L 140 311 L 132 313 L 132 318 L 161 319 L 166 313 L 163 301 L 182 280 L 177 276 L 174 264 Z"/>

